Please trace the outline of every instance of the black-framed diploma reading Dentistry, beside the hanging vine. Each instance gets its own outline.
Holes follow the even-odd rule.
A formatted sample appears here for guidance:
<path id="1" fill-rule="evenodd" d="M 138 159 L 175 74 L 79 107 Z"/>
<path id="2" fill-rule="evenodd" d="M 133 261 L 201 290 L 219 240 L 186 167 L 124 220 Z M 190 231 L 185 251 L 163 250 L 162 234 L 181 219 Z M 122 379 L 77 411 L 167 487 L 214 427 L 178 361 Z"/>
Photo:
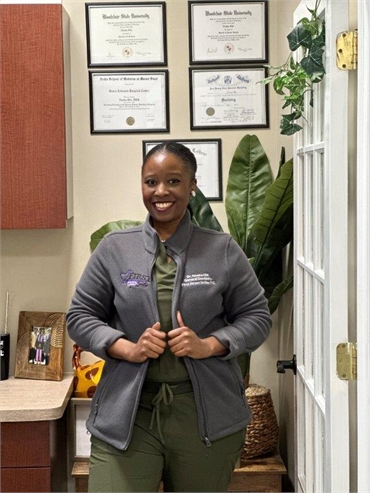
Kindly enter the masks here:
<path id="1" fill-rule="evenodd" d="M 192 130 L 268 127 L 266 68 L 189 69 Z"/>

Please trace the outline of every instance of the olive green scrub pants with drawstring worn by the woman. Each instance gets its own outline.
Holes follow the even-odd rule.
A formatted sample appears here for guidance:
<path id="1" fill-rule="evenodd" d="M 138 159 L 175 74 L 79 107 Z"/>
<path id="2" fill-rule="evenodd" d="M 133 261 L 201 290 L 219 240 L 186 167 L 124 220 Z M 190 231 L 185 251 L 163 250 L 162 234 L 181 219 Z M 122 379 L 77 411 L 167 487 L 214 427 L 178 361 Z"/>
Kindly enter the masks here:
<path id="1" fill-rule="evenodd" d="M 91 437 L 89 492 L 227 491 L 246 430 L 201 440 L 191 384 L 144 386 L 129 447 Z M 158 385 L 161 385 L 158 391 Z"/>

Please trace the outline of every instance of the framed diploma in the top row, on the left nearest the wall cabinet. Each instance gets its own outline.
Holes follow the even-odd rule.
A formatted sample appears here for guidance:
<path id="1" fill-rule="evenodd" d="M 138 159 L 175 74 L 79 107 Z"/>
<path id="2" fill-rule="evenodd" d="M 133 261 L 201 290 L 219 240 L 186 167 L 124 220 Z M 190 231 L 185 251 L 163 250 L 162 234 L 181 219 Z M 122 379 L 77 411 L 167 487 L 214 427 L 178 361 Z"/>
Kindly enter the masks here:
<path id="1" fill-rule="evenodd" d="M 166 4 L 87 3 L 89 67 L 167 65 Z"/>

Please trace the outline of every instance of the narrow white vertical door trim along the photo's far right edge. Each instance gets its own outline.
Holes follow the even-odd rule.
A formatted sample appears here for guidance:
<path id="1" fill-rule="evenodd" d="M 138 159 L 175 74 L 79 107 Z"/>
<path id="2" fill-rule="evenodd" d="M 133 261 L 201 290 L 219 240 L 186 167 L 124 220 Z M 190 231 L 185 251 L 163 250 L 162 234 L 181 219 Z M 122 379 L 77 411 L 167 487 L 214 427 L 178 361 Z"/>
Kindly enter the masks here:
<path id="1" fill-rule="evenodd" d="M 358 0 L 357 491 L 370 491 L 370 4 Z"/>

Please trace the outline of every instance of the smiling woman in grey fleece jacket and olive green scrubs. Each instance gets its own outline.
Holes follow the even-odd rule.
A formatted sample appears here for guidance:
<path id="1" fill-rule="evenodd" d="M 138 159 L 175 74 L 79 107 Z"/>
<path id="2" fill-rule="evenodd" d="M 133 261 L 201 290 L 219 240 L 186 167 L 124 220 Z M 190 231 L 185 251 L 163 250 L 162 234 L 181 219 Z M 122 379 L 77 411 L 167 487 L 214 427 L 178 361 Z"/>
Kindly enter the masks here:
<path id="1" fill-rule="evenodd" d="M 100 242 L 67 314 L 104 358 L 92 401 L 89 491 L 226 491 L 250 411 L 237 356 L 267 338 L 267 301 L 226 233 L 187 209 L 196 160 L 176 142 L 142 166 L 148 216 Z"/>

